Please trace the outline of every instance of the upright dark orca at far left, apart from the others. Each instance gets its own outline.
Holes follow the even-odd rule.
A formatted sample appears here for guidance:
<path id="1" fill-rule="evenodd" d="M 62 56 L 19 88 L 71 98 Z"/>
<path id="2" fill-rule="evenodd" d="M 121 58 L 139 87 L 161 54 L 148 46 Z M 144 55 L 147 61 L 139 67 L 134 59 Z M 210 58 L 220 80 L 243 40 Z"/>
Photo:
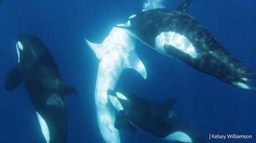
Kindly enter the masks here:
<path id="1" fill-rule="evenodd" d="M 18 63 L 8 73 L 5 89 L 14 90 L 23 81 L 35 107 L 46 142 L 65 142 L 65 97 L 68 94 L 77 94 L 76 89 L 62 82 L 54 58 L 39 38 L 30 34 L 20 34 L 16 50 Z"/>

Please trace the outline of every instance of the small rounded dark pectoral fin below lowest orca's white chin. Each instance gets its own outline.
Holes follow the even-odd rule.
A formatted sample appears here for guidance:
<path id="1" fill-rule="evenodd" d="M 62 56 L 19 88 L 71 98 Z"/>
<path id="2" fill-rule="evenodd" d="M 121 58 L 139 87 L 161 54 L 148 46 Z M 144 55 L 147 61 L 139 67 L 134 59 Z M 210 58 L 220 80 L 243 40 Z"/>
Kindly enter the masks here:
<path id="1" fill-rule="evenodd" d="M 119 129 L 125 128 L 126 125 L 127 125 L 127 118 L 125 115 L 125 111 L 120 110 L 117 113 L 117 116 L 115 116 L 114 127 L 119 130 Z"/>

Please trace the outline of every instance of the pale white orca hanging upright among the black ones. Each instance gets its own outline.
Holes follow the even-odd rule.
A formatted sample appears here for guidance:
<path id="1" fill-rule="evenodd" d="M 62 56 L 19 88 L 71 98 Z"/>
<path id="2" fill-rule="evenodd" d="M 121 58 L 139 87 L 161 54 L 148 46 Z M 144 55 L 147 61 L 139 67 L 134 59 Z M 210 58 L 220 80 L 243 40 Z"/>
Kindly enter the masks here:
<path id="1" fill-rule="evenodd" d="M 124 25 L 124 24 L 122 24 Z M 113 90 L 124 69 L 138 71 L 144 79 L 147 72 L 135 53 L 136 40 L 121 28 L 113 28 L 101 44 L 86 43 L 100 59 L 94 93 L 97 122 L 105 142 L 119 143 L 119 132 L 114 128 L 115 110 L 108 101 L 108 90 Z"/>

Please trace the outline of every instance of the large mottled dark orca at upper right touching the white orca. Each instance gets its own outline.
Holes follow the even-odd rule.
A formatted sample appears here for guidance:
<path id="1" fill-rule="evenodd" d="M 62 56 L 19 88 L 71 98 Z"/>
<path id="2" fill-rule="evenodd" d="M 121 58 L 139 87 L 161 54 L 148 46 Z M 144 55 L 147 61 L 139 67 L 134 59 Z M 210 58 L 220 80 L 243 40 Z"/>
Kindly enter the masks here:
<path id="1" fill-rule="evenodd" d="M 225 83 L 244 89 L 256 89 L 256 74 L 234 58 L 187 10 L 187 0 L 175 10 L 158 8 L 129 18 L 127 33 L 167 57 L 175 57 L 189 66 Z"/>

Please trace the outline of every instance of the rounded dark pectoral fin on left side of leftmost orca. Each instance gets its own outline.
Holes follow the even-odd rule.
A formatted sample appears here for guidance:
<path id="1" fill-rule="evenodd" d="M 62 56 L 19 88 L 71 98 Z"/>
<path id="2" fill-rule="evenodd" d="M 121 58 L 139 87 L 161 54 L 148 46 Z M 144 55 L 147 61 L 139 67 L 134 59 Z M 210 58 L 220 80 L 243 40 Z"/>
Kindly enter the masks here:
<path id="1" fill-rule="evenodd" d="M 19 69 L 19 64 L 16 64 L 13 69 L 8 73 L 5 90 L 14 90 L 22 83 L 22 74 Z"/>

